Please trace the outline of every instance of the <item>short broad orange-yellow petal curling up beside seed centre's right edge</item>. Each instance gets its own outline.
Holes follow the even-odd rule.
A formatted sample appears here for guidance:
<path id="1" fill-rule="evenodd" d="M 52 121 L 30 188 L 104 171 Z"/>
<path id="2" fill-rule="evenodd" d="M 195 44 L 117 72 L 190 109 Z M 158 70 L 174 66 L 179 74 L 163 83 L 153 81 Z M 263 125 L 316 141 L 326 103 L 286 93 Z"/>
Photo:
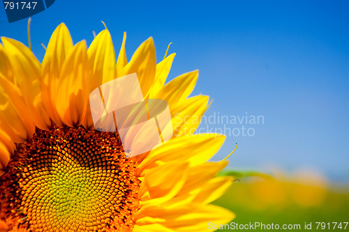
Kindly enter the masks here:
<path id="1" fill-rule="evenodd" d="M 141 198 L 142 203 L 163 203 L 174 197 L 186 182 L 187 169 L 186 162 L 172 162 L 145 171 L 141 185 L 146 187 L 150 199 Z M 142 192 L 139 195 L 142 196 Z"/>

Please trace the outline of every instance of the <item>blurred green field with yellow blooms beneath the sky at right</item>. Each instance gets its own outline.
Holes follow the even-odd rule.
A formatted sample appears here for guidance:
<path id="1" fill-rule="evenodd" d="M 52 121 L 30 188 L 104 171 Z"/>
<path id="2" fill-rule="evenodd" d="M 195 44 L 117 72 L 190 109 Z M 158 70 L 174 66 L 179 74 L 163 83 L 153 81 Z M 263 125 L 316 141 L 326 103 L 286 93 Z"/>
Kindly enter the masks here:
<path id="1" fill-rule="evenodd" d="M 214 204 L 235 212 L 236 218 L 232 222 L 274 223 L 280 226 L 300 224 L 301 229 L 298 231 L 349 231 L 349 224 L 343 224 L 349 222 L 348 185 L 336 185 L 313 171 L 292 174 L 279 171 L 272 176 L 254 172 L 225 171 L 221 175 L 232 175 L 239 179 L 232 184 L 228 192 L 214 201 Z M 312 229 L 305 230 L 304 223 L 310 222 Z M 326 228 L 322 229 L 316 222 L 325 222 Z M 337 226 L 342 222 L 343 228 L 333 229 L 332 222 L 338 222 Z M 267 230 L 258 228 L 244 231 Z"/>

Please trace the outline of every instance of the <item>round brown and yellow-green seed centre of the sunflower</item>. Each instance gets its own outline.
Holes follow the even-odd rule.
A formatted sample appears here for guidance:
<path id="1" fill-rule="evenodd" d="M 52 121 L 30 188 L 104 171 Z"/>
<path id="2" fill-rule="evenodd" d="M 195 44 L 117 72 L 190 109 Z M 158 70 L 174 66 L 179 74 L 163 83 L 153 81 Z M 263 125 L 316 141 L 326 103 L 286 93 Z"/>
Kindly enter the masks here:
<path id="1" fill-rule="evenodd" d="M 135 170 L 116 134 L 38 130 L 0 177 L 0 218 L 20 231 L 128 231 Z"/>

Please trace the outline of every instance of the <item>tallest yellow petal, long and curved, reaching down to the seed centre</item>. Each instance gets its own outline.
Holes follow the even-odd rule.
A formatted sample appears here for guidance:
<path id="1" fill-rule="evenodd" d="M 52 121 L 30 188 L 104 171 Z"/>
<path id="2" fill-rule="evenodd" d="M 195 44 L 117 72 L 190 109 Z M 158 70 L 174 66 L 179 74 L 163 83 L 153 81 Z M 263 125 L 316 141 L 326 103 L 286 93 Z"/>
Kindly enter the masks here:
<path id="1" fill-rule="evenodd" d="M 66 56 L 73 49 L 73 41 L 65 24 L 60 24 L 54 30 L 47 45 L 45 57 L 43 59 L 43 82 L 42 82 L 42 98 L 47 112 L 52 120 L 61 125 L 61 118 L 54 107 L 54 98 L 57 95 L 57 84 L 59 72 L 63 66 Z"/>

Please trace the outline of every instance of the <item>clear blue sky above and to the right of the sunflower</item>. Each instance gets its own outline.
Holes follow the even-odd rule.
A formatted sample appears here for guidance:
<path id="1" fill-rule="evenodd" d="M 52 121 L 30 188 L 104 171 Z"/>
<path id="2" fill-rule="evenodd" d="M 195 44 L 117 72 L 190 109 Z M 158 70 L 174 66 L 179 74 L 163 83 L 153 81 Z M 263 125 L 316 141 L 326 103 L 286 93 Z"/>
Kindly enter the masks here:
<path id="1" fill-rule="evenodd" d="M 47 45 L 61 22 L 74 42 L 89 44 L 103 20 L 117 51 L 126 31 L 128 59 L 149 36 L 158 61 L 173 42 L 170 78 L 200 71 L 193 95 L 214 100 L 207 116 L 264 117 L 264 124 L 244 125 L 253 137 L 227 137 L 214 160 L 238 143 L 232 168 L 310 168 L 343 181 L 349 178 L 348 10 L 348 1 L 56 0 L 34 15 L 31 38 L 39 60 L 39 42 Z M 27 44 L 27 20 L 8 24 L 0 7 L 0 34 Z"/>

